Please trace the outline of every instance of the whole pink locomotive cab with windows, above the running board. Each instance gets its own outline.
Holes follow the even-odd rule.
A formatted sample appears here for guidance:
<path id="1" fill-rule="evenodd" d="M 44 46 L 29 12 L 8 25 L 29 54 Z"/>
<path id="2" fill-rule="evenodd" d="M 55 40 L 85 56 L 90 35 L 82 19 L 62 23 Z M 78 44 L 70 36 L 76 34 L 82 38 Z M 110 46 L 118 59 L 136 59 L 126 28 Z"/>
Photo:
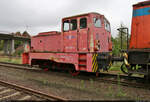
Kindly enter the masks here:
<path id="1" fill-rule="evenodd" d="M 109 52 L 110 24 L 104 15 L 88 13 L 62 20 L 64 52 Z"/>

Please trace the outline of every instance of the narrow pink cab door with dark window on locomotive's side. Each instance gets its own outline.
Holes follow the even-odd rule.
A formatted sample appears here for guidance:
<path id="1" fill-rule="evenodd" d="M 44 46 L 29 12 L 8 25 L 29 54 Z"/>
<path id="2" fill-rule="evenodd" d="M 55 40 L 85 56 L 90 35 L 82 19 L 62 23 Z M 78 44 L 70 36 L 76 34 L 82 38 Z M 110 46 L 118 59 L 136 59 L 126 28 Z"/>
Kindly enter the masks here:
<path id="1" fill-rule="evenodd" d="M 87 52 L 88 51 L 88 38 L 89 38 L 89 29 L 87 26 L 88 17 L 81 17 L 78 19 L 78 51 Z"/>

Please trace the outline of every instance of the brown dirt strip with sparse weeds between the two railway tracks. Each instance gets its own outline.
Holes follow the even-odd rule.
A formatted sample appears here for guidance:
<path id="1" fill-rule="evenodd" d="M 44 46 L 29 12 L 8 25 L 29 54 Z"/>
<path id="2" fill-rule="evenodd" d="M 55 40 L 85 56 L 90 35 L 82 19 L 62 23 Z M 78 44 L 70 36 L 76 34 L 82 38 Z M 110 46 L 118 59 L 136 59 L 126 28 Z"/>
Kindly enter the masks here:
<path id="1" fill-rule="evenodd" d="M 70 100 L 150 100 L 150 90 L 97 82 L 90 77 L 84 80 L 64 72 L 0 67 L 0 79 Z"/>

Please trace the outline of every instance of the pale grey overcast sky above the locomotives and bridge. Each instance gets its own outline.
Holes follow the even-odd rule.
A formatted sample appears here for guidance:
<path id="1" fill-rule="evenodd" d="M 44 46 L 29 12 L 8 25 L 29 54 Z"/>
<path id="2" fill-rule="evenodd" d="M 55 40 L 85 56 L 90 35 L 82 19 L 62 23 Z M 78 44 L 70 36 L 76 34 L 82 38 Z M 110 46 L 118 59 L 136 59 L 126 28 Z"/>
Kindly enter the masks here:
<path id="1" fill-rule="evenodd" d="M 144 0 L 0 0 L 0 32 L 60 31 L 63 17 L 98 12 L 110 21 L 116 36 L 120 23 L 131 27 L 132 5 L 140 1 Z"/>

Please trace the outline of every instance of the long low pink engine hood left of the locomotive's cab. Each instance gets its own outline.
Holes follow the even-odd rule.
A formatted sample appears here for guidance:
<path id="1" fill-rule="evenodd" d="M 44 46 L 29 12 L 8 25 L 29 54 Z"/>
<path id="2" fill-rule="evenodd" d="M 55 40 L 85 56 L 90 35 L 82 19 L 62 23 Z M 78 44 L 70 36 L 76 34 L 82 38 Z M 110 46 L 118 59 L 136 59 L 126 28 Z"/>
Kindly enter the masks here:
<path id="1" fill-rule="evenodd" d="M 31 38 L 31 48 L 36 52 L 61 52 L 61 33 L 43 32 Z"/>

